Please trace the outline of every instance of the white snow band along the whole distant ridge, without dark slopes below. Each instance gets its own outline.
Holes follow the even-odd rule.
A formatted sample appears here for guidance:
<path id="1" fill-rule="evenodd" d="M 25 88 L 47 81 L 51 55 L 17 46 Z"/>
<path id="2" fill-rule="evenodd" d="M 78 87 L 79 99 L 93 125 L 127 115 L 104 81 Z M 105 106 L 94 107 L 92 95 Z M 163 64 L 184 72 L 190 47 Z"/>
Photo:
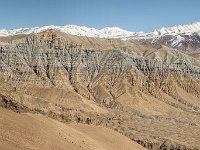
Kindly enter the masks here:
<path id="1" fill-rule="evenodd" d="M 34 28 L 20 28 L 14 30 L 2 29 L 0 30 L 0 36 L 39 33 L 48 29 L 55 29 L 67 34 L 72 34 L 77 36 L 87 36 L 87 37 L 121 38 L 124 40 L 150 39 L 150 38 L 158 38 L 165 35 L 177 36 L 180 34 L 192 34 L 194 32 L 200 33 L 200 22 L 192 23 L 189 25 L 176 25 L 169 28 L 163 27 L 149 33 L 130 32 L 123 30 L 119 27 L 106 27 L 103 29 L 95 29 L 77 25 L 65 25 L 65 26 L 50 25 L 50 26 L 34 27 Z"/>

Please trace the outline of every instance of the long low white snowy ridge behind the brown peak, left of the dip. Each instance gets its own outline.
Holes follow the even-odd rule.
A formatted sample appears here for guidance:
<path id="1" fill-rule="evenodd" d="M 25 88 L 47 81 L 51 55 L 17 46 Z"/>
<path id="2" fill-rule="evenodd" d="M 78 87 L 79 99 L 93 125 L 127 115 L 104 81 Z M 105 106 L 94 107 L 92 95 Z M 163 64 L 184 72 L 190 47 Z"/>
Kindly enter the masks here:
<path id="1" fill-rule="evenodd" d="M 55 29 L 61 32 L 77 35 L 77 36 L 87 36 L 87 37 L 99 37 L 99 38 L 122 38 L 133 35 L 133 32 L 129 32 L 118 27 L 107 27 L 101 30 L 95 28 L 88 28 L 85 26 L 77 25 L 66 25 L 66 26 L 43 26 L 34 28 L 20 28 L 14 30 L 0 30 L 0 36 L 10 36 L 18 34 L 30 34 L 39 33 L 48 29 Z"/>

